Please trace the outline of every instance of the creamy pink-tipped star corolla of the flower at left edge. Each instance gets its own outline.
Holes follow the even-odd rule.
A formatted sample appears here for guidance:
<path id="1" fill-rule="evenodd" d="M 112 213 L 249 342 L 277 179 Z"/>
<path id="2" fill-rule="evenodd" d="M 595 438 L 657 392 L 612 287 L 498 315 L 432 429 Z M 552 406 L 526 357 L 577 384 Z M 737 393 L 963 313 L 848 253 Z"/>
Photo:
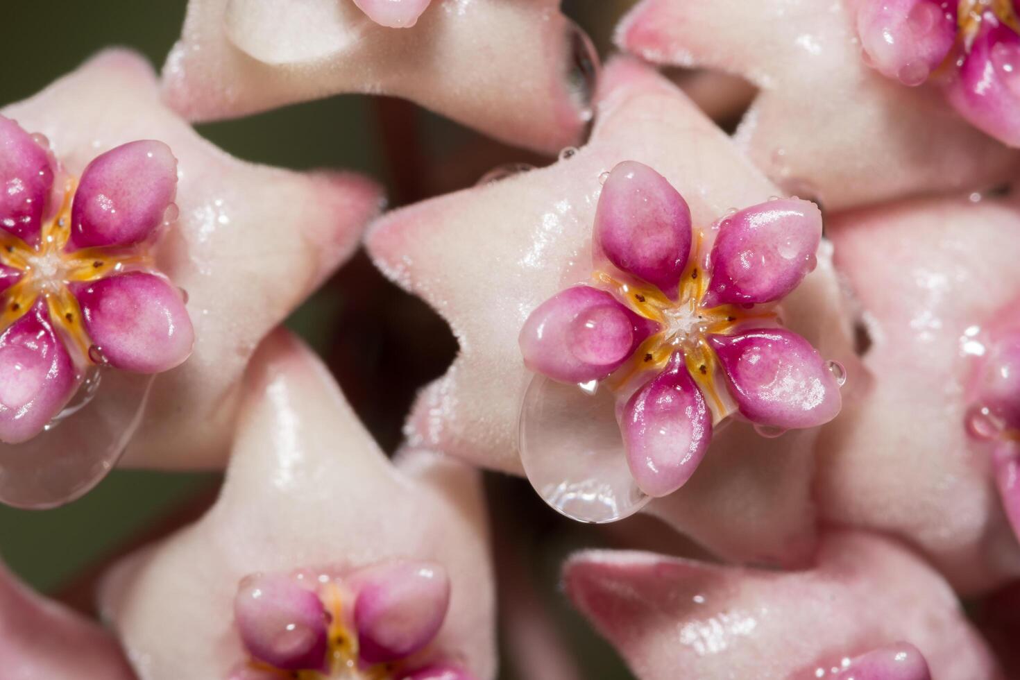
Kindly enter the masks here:
<path id="1" fill-rule="evenodd" d="M 78 176 L 97 154 L 128 142 L 159 140 L 172 149 L 180 217 L 153 255 L 188 293 L 195 349 L 156 380 L 124 462 L 221 466 L 252 353 L 353 252 L 379 209 L 378 188 L 353 174 L 231 158 L 167 109 L 146 60 L 123 51 L 100 54 L 0 113 L 45 134 Z M 94 403 L 105 399 L 100 390 Z"/>

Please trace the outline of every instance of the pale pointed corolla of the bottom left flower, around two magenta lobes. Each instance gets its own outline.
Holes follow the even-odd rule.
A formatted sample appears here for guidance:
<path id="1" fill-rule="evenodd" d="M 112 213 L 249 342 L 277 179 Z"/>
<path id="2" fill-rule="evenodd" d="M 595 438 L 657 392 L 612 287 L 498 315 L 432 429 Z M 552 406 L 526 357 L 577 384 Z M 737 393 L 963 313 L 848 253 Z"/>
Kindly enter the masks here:
<path id="1" fill-rule="evenodd" d="M 119 566 L 101 598 L 145 680 L 226 678 L 248 659 L 234 625 L 245 576 L 309 569 L 346 581 L 394 561 L 441 564 L 450 607 L 429 653 L 493 680 L 484 516 L 474 471 L 423 451 L 391 463 L 325 366 L 282 331 L 253 359 L 213 508 Z"/>

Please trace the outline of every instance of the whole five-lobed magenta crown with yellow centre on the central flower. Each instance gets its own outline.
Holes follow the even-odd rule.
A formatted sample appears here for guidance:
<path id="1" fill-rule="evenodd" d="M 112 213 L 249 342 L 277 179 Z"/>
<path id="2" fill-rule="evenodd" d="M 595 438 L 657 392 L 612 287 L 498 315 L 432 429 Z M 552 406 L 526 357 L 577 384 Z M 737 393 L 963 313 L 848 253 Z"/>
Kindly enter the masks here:
<path id="1" fill-rule="evenodd" d="M 557 382 L 612 393 L 634 482 L 649 496 L 672 493 L 731 414 L 774 436 L 838 413 L 843 367 L 783 328 L 776 306 L 814 269 L 821 233 L 818 208 L 796 198 L 692 228 L 665 177 L 623 161 L 599 196 L 594 285 L 569 287 L 531 312 L 520 332 L 524 363 Z M 557 399 L 532 397 L 543 389 L 532 384 L 525 401 Z M 525 403 L 522 446 L 541 450 L 523 452 L 526 469 L 534 457 L 574 455 L 565 441 L 543 440 L 552 436 L 543 421 L 561 417 L 546 415 L 556 408 Z"/>

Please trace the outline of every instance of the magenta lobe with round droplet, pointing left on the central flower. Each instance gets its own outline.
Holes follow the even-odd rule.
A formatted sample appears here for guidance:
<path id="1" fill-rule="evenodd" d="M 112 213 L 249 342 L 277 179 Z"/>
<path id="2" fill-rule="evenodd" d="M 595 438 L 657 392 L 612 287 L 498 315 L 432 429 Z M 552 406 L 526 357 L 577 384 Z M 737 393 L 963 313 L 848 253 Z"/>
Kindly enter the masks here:
<path id="1" fill-rule="evenodd" d="M 539 305 L 518 343 L 529 370 L 560 382 L 588 382 L 619 368 L 656 328 L 609 293 L 575 285 Z"/>

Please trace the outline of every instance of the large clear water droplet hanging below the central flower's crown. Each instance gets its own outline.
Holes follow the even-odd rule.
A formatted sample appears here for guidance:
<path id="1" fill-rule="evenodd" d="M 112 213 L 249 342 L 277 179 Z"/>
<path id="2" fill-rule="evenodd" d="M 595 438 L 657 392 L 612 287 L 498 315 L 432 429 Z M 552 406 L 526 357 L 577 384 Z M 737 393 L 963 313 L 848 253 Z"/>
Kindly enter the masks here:
<path id="1" fill-rule="evenodd" d="M 630 476 L 609 389 L 536 376 L 520 414 L 520 455 L 528 481 L 555 510 L 580 522 L 614 522 L 651 500 Z"/>

